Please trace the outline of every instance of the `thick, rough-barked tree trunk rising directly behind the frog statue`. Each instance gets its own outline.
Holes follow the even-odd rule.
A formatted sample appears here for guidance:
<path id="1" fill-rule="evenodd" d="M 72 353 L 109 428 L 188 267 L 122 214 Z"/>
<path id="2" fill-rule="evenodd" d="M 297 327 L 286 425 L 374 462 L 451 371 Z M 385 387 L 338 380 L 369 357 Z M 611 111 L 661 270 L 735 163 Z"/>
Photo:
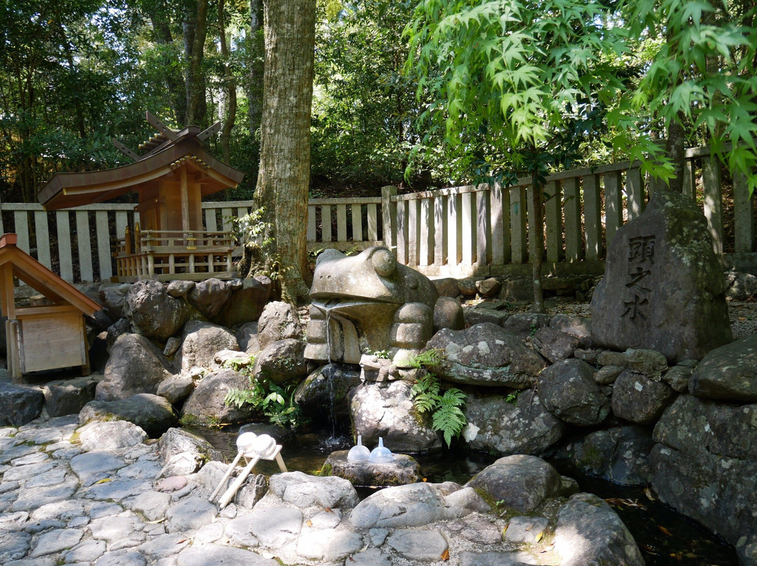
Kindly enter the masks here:
<path id="1" fill-rule="evenodd" d="M 278 0 L 265 4 L 263 117 L 260 169 L 255 200 L 266 207 L 273 224 L 275 256 L 285 294 L 292 300 L 308 294 L 307 193 L 310 184 L 310 106 L 316 0 Z M 275 269 L 275 268 L 274 268 Z"/>

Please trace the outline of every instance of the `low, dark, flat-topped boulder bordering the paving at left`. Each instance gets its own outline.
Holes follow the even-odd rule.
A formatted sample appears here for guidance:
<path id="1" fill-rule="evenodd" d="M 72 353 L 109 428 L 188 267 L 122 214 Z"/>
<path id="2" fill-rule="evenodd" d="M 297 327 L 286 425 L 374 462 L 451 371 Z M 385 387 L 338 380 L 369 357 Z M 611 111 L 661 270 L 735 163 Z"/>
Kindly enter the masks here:
<path id="1" fill-rule="evenodd" d="M 160 437 L 178 422 L 171 403 L 151 393 L 117 401 L 90 401 L 79 412 L 82 425 L 89 421 L 114 420 L 132 422 L 152 438 Z"/>

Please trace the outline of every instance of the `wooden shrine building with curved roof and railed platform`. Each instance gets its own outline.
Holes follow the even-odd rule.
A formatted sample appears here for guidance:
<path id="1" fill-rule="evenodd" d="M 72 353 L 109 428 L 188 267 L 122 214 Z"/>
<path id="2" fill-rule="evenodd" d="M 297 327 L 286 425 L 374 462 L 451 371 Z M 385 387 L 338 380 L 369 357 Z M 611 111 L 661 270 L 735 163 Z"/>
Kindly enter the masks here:
<path id="1" fill-rule="evenodd" d="M 234 236 L 204 230 L 202 197 L 235 188 L 245 175 L 217 160 L 202 147 L 220 123 L 200 131 L 176 131 L 149 112 L 159 133 L 140 149 L 142 156 L 114 140 L 134 163 L 88 173 L 57 173 L 37 197 L 45 210 L 94 204 L 133 191 L 139 222 L 118 235 L 114 256 L 117 280 L 201 280 L 232 277 Z"/>

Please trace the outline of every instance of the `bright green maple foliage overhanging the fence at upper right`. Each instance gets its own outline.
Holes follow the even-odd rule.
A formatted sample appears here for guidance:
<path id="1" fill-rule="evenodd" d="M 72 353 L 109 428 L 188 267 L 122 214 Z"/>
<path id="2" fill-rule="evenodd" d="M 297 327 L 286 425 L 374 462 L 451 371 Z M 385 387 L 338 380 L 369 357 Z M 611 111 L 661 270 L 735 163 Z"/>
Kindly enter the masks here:
<path id="1" fill-rule="evenodd" d="M 703 0 L 424 0 L 408 70 L 459 174 L 531 173 L 600 143 L 669 179 L 656 139 L 678 125 L 754 187 L 754 15 Z"/>

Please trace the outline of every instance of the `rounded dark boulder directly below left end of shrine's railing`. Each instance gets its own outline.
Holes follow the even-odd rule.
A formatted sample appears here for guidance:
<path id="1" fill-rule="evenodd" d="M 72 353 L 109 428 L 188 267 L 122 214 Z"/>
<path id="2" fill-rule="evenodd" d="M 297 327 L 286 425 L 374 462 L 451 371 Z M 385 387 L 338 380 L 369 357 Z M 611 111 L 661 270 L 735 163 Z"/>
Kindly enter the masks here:
<path id="1" fill-rule="evenodd" d="M 184 301 L 171 297 L 159 281 L 137 281 L 126 293 L 123 316 L 139 334 L 165 342 L 176 334 L 187 319 Z"/>

